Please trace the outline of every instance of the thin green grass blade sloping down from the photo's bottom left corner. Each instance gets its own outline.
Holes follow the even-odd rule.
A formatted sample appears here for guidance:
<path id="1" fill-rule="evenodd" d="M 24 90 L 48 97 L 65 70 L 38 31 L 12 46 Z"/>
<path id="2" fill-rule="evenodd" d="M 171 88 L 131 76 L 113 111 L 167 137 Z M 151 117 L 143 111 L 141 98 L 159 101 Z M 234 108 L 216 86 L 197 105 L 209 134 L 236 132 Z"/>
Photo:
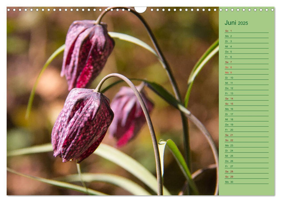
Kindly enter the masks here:
<path id="1" fill-rule="evenodd" d="M 25 175 L 23 173 L 16 172 L 16 171 L 14 171 L 14 170 L 12 170 L 8 167 L 7 167 L 7 171 L 9 171 L 11 173 L 14 173 L 14 174 L 17 174 L 17 175 L 21 175 L 23 177 L 28 177 L 30 179 L 34 179 L 34 180 L 37 180 L 37 181 L 40 181 L 40 182 L 44 182 L 44 183 L 47 183 L 47 184 L 51 184 L 51 185 L 66 188 L 66 189 L 71 189 L 71 190 L 82 192 L 82 193 L 85 193 L 85 194 L 107 195 L 107 194 L 104 194 L 102 192 L 98 192 L 98 191 L 93 190 L 93 189 L 86 189 L 85 187 L 74 185 L 74 184 L 69 184 L 69 183 L 66 183 L 66 182 L 60 182 L 60 181 L 57 181 L 57 180 L 45 179 L 45 178 L 42 178 L 42 177 L 34 177 L 34 176 L 31 176 L 31 175 Z"/>

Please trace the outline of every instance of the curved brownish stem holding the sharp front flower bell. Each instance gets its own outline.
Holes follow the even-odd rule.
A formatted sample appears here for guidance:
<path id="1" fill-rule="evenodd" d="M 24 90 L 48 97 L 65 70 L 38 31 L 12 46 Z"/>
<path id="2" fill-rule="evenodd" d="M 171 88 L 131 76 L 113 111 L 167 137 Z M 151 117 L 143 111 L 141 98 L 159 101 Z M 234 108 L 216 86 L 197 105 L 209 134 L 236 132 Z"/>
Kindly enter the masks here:
<path id="1" fill-rule="evenodd" d="M 150 135 L 151 135 L 151 139 L 152 139 L 152 143 L 153 143 L 153 149 L 154 149 L 154 155 L 155 155 L 155 162 L 156 162 L 156 174 L 157 174 L 157 184 L 158 184 L 158 195 L 163 195 L 163 181 L 162 181 L 162 174 L 161 174 L 161 162 L 160 162 L 160 154 L 159 154 L 159 148 L 158 148 L 158 142 L 156 139 L 156 135 L 155 135 L 155 131 L 149 116 L 149 113 L 146 109 L 146 106 L 144 104 L 144 101 L 142 100 L 141 95 L 139 94 L 139 91 L 137 90 L 137 88 L 135 87 L 135 85 L 126 77 L 123 76 L 122 74 L 109 74 L 107 76 L 105 76 L 100 83 L 98 84 L 97 88 L 95 89 L 95 91 L 100 92 L 100 88 L 102 86 L 102 84 L 104 83 L 104 81 L 106 81 L 106 79 L 111 78 L 111 77 L 118 77 L 121 78 L 122 80 L 124 80 L 134 91 L 139 104 L 142 107 L 142 110 L 144 112 L 146 121 L 147 121 L 147 125 L 150 131 Z"/>

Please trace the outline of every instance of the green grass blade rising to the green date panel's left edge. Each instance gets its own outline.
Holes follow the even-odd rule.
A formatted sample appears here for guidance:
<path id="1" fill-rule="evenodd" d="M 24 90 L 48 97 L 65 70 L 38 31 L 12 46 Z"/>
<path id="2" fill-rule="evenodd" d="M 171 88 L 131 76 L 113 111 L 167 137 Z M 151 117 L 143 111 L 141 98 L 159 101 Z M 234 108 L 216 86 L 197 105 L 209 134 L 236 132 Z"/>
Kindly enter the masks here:
<path id="1" fill-rule="evenodd" d="M 216 40 L 207 51 L 200 57 L 195 66 L 193 67 L 190 76 L 188 78 L 188 89 L 186 91 L 186 96 L 184 98 L 184 106 L 188 106 L 190 91 L 194 82 L 195 77 L 204 67 L 204 65 L 218 52 L 218 40 Z"/>

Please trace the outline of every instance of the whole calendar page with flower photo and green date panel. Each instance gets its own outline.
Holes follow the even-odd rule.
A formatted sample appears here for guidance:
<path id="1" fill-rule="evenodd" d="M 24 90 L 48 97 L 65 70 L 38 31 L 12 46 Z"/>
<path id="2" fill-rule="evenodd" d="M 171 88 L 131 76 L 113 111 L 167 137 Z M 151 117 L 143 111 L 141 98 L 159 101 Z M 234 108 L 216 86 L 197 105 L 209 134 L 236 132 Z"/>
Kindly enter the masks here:
<path id="1" fill-rule="evenodd" d="M 275 10 L 7 6 L 7 195 L 275 195 Z"/>

